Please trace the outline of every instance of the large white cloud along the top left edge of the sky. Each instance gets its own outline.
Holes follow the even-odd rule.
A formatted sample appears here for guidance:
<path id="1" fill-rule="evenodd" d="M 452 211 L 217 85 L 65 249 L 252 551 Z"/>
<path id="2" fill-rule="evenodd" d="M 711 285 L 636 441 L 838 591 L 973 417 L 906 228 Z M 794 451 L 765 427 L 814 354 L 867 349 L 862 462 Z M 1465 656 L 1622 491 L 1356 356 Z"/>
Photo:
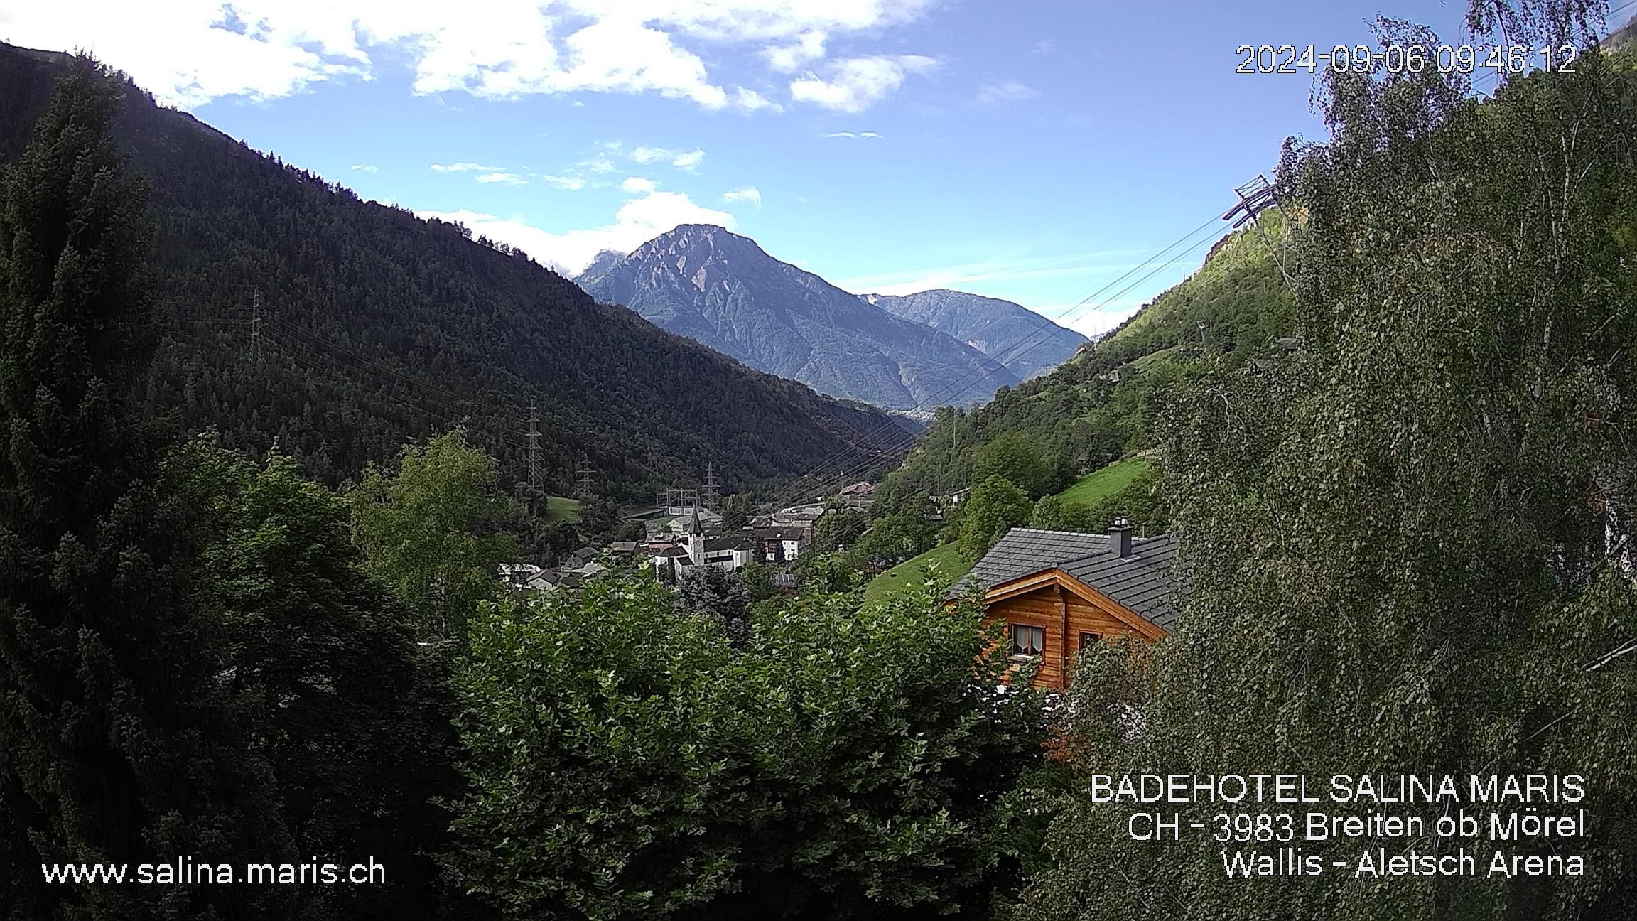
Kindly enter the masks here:
<path id="1" fill-rule="evenodd" d="M 283 97 L 408 61 L 417 93 L 658 93 L 702 108 L 773 108 L 722 85 L 694 51 L 750 44 L 769 67 L 814 64 L 835 36 L 874 34 L 938 0 L 82 0 L 18 3 L 7 39 L 83 48 L 170 105 Z M 712 49 L 712 57 L 719 57 Z"/>

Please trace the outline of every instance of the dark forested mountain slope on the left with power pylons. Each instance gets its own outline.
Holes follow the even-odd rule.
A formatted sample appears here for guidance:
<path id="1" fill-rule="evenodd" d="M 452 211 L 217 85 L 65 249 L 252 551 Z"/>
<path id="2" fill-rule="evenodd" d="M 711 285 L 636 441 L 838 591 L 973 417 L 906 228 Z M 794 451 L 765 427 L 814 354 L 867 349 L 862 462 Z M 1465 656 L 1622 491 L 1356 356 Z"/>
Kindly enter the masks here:
<path id="1" fill-rule="evenodd" d="M 65 66 L 0 46 L 0 161 Z M 584 452 L 598 487 L 637 495 L 707 462 L 737 483 L 781 480 L 886 421 L 598 305 L 522 252 L 362 202 L 134 87 L 118 131 L 157 225 L 167 341 L 146 397 L 188 429 L 216 426 L 250 451 L 277 441 L 336 480 L 465 421 L 521 475 L 534 402 L 548 487 L 566 490 Z"/>

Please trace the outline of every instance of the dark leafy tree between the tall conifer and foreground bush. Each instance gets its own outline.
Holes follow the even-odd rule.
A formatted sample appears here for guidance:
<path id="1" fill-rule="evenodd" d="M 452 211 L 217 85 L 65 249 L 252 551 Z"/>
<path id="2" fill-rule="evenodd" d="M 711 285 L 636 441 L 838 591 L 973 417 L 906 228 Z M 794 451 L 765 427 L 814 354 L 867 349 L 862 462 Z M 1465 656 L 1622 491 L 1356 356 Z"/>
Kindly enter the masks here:
<path id="1" fill-rule="evenodd" d="M 431 859 L 447 846 L 432 800 L 458 788 L 444 675 L 416 654 L 404 606 L 365 572 L 347 503 L 288 457 L 257 467 L 214 438 L 177 449 L 164 479 L 208 510 L 190 582 L 295 852 L 388 867 L 385 883 L 306 888 L 301 916 L 453 911 Z"/>

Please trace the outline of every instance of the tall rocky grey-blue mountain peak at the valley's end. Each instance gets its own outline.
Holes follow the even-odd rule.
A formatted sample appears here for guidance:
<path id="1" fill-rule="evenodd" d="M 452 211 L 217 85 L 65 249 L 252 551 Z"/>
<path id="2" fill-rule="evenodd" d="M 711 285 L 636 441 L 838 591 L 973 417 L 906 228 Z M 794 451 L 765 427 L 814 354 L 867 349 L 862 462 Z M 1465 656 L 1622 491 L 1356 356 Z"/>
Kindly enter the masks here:
<path id="1" fill-rule="evenodd" d="M 683 225 L 576 282 L 750 367 L 889 410 L 987 402 L 1018 377 L 981 349 L 779 262 L 756 241 Z"/>

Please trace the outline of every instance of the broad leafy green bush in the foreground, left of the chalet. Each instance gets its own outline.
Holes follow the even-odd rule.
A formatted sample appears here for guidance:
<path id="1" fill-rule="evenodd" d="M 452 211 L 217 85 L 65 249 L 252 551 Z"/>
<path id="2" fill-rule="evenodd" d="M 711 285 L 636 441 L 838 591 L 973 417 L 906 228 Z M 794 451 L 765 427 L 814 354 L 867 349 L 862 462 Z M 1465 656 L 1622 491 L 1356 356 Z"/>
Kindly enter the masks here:
<path id="1" fill-rule="evenodd" d="M 1044 737 L 979 618 L 809 595 L 733 647 L 643 578 L 486 605 L 452 869 L 507 918 L 979 918 Z"/>

